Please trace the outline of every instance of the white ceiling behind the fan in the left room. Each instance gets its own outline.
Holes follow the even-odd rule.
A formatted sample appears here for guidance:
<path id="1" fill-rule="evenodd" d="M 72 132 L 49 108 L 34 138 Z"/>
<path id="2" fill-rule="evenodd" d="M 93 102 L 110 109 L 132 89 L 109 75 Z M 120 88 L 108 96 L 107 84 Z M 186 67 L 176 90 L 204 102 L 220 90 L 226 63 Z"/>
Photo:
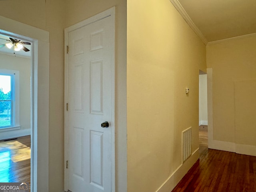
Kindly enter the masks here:
<path id="1" fill-rule="evenodd" d="M 3 35 L 3 34 L 0 34 L 0 45 L 6 44 L 6 43 L 10 42 L 9 41 L 10 40 L 9 37 L 16 39 L 16 37 L 6 36 L 6 35 Z M 31 50 L 31 45 L 25 45 L 25 47 L 28 48 L 29 50 Z M 4 54 L 12 54 L 13 56 L 17 55 L 17 56 L 30 57 L 30 51 L 28 51 L 28 52 L 25 52 L 24 50 L 14 51 L 13 48 L 9 49 L 6 46 L 0 48 L 0 52 L 4 53 Z"/>

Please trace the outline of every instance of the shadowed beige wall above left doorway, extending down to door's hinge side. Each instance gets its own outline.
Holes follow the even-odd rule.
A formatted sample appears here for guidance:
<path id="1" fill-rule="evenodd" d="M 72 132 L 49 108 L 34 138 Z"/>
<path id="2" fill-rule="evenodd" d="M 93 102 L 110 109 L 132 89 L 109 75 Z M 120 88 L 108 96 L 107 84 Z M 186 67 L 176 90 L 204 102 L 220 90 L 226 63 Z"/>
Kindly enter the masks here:
<path id="1" fill-rule="evenodd" d="M 0 1 L 0 7 L 1 16 L 49 31 L 50 33 L 49 192 L 62 192 L 64 188 L 63 47 L 65 11 L 63 1 Z M 48 132 L 48 127 L 45 127 L 45 129 Z"/>

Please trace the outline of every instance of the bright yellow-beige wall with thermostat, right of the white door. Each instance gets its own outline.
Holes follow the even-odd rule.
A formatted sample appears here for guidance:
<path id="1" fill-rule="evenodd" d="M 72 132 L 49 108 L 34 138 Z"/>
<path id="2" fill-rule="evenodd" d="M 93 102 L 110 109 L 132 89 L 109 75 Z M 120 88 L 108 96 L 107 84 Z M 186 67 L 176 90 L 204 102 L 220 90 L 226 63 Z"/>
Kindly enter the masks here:
<path id="1" fill-rule="evenodd" d="M 182 164 L 183 130 L 198 149 L 206 46 L 169 0 L 127 3 L 128 192 L 155 192 Z"/>

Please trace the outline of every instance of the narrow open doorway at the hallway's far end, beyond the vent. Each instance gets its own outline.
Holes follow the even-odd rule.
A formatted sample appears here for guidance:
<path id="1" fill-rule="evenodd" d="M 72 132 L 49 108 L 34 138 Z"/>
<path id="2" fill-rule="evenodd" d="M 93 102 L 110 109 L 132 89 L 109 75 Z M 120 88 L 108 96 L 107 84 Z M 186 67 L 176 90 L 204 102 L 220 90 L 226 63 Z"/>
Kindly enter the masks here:
<path id="1" fill-rule="evenodd" d="M 199 70 L 199 154 L 208 151 L 207 74 Z"/>

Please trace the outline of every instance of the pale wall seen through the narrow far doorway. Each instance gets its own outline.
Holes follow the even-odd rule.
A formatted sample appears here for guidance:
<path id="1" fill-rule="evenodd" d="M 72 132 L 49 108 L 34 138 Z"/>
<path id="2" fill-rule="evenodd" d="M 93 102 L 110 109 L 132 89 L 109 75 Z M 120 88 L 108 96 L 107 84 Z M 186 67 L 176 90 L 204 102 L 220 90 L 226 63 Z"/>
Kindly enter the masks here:
<path id="1" fill-rule="evenodd" d="M 207 74 L 199 75 L 199 125 L 208 125 Z"/>

